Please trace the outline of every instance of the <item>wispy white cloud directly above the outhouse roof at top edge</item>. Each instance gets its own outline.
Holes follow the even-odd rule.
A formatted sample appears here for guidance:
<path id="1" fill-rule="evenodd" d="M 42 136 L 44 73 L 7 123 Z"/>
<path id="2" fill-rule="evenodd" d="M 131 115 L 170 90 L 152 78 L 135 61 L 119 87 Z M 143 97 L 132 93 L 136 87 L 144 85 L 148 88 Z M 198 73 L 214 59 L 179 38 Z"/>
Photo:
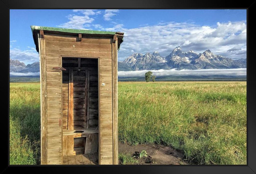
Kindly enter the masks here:
<path id="1" fill-rule="evenodd" d="M 90 24 L 94 21 L 94 18 L 90 16 L 100 13 L 100 11 L 96 10 L 73 10 L 73 12 L 83 15 L 68 15 L 69 21 L 58 26 L 69 29 L 86 29 L 85 27 L 90 27 Z"/>

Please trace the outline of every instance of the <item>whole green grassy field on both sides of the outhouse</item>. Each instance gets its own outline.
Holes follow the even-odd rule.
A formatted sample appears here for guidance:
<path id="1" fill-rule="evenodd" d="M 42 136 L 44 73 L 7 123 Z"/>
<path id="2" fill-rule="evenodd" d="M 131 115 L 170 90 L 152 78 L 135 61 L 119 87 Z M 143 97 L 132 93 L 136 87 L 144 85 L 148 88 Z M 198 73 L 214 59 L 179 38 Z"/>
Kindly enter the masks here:
<path id="1" fill-rule="evenodd" d="M 246 82 L 119 82 L 118 112 L 120 142 L 171 145 L 188 163 L 246 164 Z M 10 84 L 10 147 L 11 164 L 39 163 L 39 83 Z"/>

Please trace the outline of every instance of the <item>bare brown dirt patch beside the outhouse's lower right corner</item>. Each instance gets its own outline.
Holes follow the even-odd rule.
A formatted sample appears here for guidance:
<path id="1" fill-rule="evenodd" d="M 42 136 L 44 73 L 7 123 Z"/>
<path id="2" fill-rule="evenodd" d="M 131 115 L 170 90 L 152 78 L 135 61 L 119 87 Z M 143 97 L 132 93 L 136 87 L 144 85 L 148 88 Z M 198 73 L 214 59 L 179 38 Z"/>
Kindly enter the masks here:
<path id="1" fill-rule="evenodd" d="M 139 152 L 142 150 L 146 150 L 148 157 L 139 158 Z M 136 156 L 134 158 L 139 161 L 136 164 L 187 165 L 187 163 L 182 160 L 182 153 L 164 145 L 153 144 L 131 146 L 124 143 L 118 143 L 118 152 L 129 153 L 131 156 Z"/>

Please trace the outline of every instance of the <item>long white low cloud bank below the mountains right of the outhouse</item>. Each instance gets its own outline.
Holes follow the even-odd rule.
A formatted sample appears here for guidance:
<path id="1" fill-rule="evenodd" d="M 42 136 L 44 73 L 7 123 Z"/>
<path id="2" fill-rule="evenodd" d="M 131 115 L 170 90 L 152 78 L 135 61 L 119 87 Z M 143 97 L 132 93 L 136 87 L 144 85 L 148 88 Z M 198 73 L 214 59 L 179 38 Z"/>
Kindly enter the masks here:
<path id="1" fill-rule="evenodd" d="M 145 73 L 149 70 L 142 71 L 118 71 L 119 77 L 141 77 L 145 76 Z M 246 76 L 246 68 L 239 69 L 160 69 L 150 70 L 155 76 L 209 76 L 209 75 L 227 75 L 227 76 Z"/>

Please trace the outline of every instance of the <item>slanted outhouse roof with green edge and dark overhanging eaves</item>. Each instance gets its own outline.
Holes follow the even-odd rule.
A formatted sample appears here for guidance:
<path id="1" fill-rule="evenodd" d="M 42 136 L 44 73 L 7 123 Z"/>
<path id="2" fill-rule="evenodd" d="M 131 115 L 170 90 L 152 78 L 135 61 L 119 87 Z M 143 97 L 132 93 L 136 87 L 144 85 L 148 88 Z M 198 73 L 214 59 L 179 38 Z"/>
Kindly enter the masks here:
<path id="1" fill-rule="evenodd" d="M 117 34 L 119 38 L 121 38 L 120 42 L 118 42 L 118 50 L 120 44 L 123 42 L 123 32 L 108 32 L 108 31 L 96 31 L 96 30 L 85 30 L 85 29 L 64 29 L 57 27 L 48 27 L 48 26 L 30 26 L 33 34 L 33 39 L 36 45 L 36 50 L 38 52 L 38 42 L 37 42 L 37 32 L 40 30 L 53 32 L 53 33 L 63 33 L 63 34 L 93 34 L 93 35 L 101 35 L 102 37 L 110 37 Z"/>

